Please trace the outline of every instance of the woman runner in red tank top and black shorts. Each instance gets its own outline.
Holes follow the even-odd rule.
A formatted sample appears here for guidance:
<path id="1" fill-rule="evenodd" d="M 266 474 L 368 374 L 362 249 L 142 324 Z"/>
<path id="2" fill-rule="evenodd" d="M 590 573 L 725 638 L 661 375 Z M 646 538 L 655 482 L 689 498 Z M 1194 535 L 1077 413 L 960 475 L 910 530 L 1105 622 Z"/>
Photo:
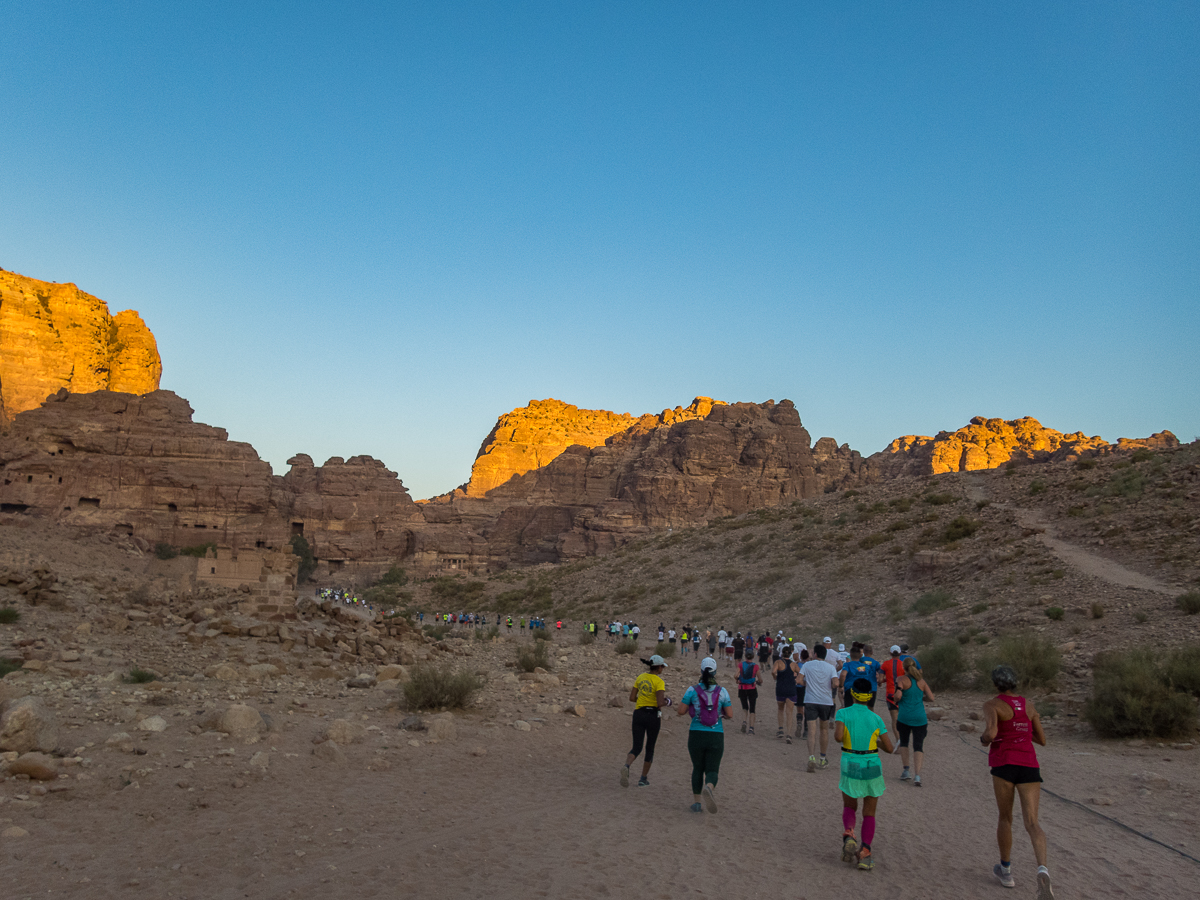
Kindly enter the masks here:
<path id="1" fill-rule="evenodd" d="M 992 874 L 1006 888 L 1016 886 L 1013 878 L 1013 794 L 1021 798 L 1021 818 L 1033 842 L 1038 862 L 1038 900 L 1054 900 L 1050 870 L 1046 869 L 1046 835 L 1038 824 L 1038 800 L 1042 796 L 1042 769 L 1033 744 L 1046 745 L 1042 718 L 1025 697 L 1016 694 L 1016 673 L 1009 666 L 991 670 L 991 683 L 1000 694 L 983 704 L 984 731 L 979 743 L 988 749 L 991 786 L 996 793 L 1000 823 L 996 842 L 1000 863 Z"/>

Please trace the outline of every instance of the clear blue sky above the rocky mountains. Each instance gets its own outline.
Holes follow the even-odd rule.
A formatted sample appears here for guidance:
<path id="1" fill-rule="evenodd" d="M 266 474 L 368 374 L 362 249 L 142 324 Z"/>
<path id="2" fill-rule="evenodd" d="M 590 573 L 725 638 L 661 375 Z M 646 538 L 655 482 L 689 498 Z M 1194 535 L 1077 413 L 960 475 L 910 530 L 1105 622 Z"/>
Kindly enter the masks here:
<path id="1" fill-rule="evenodd" d="M 529 400 L 1200 436 L 1195 2 L 0 0 L 0 266 L 276 473 Z"/>

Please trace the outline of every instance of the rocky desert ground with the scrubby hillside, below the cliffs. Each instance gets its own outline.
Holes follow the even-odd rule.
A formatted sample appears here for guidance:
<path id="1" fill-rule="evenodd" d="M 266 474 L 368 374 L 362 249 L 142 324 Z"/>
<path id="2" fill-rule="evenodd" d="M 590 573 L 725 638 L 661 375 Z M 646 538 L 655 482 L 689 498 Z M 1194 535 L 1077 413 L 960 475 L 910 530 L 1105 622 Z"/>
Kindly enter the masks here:
<path id="1" fill-rule="evenodd" d="M 1058 895 L 1190 893 L 1200 754 L 1100 740 L 1074 714 L 1097 650 L 1194 642 L 1200 625 L 1175 607 L 1200 559 L 1196 448 L 1120 462 L 902 479 L 493 578 L 480 607 L 566 616 L 534 673 L 514 667 L 520 632 L 436 640 L 312 602 L 257 622 L 236 592 L 156 587 L 126 539 L 0 528 L 0 607 L 20 616 L 0 624 L 0 658 L 19 666 L 0 679 L 4 896 L 674 898 L 781 882 L 827 896 L 856 877 L 906 898 L 997 893 L 982 695 L 938 697 L 922 791 L 886 761 L 878 866 L 850 872 L 835 775 L 803 772 L 770 709 L 758 736 L 727 736 L 716 816 L 686 809 L 686 736 L 671 719 L 652 787 L 617 786 L 641 666 L 578 638 L 608 614 L 880 644 L 926 628 L 965 635 L 971 653 L 1012 630 L 1049 637 L 1064 659 L 1037 695 L 1058 707 L 1042 802 Z M 413 604 L 449 605 L 436 587 L 408 586 Z M 914 612 L 935 589 L 950 605 Z M 403 684 L 422 662 L 484 686 L 467 710 L 418 721 Z M 696 664 L 671 664 L 678 696 Z M 719 874 L 697 875 L 696 858 Z M 1032 893 L 1020 834 L 1016 860 Z"/>

